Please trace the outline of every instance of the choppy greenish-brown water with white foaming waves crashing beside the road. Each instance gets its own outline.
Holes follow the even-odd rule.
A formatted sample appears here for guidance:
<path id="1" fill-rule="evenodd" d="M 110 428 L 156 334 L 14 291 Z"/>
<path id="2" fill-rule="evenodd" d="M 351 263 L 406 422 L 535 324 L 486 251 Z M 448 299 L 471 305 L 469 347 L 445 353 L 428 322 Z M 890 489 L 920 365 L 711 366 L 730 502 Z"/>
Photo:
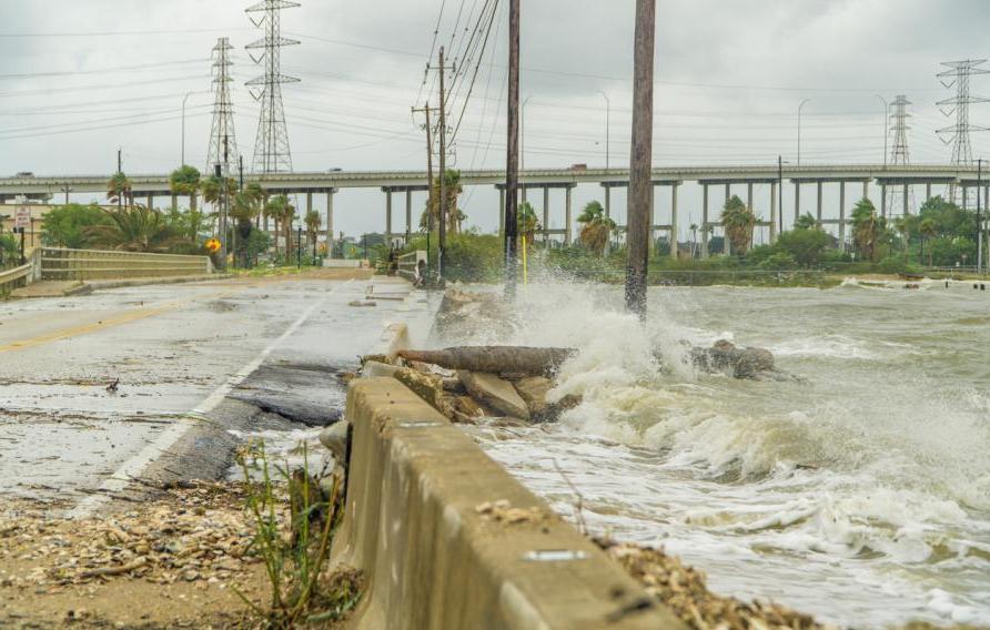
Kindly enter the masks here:
<path id="1" fill-rule="evenodd" d="M 821 620 L 990 623 L 990 297 L 531 285 L 511 343 L 582 349 L 556 425 L 473 429 L 564 515 L 661 546 L 713 590 Z M 683 342 L 769 348 L 806 383 L 698 375 Z M 487 342 L 493 339 L 488 338 Z M 655 353 L 675 367 L 661 373 Z M 566 476 L 566 479 L 565 479 Z"/>

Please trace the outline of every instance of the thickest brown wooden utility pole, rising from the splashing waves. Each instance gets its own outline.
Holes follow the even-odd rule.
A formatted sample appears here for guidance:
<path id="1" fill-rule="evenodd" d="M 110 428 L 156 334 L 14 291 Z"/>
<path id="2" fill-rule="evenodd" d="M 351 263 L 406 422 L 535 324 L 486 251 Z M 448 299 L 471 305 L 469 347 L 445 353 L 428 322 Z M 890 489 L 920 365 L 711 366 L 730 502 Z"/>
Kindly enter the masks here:
<path id="1" fill-rule="evenodd" d="M 633 70 L 633 151 L 629 156 L 626 308 L 646 319 L 653 195 L 653 68 L 656 0 L 636 0 Z"/>

